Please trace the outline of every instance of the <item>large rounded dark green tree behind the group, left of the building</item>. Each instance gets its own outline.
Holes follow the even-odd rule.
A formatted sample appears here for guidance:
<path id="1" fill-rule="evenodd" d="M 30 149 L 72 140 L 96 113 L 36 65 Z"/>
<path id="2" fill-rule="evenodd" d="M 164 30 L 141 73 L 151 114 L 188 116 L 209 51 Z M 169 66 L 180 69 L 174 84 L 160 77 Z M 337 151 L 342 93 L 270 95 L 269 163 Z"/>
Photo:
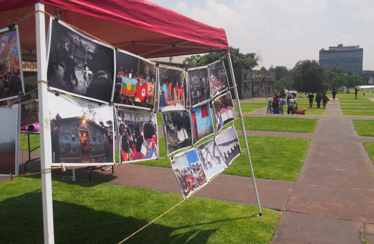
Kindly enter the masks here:
<path id="1" fill-rule="evenodd" d="M 324 91 L 328 88 L 325 68 L 315 60 L 298 61 L 292 69 L 295 89 L 301 92 Z"/>

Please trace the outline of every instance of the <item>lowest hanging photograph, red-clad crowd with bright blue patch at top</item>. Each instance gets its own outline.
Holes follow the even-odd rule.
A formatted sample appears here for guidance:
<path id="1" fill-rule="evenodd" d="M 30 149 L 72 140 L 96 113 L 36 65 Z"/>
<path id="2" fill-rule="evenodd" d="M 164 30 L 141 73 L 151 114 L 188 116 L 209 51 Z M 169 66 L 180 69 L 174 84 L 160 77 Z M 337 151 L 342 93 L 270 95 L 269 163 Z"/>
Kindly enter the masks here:
<path id="1" fill-rule="evenodd" d="M 198 188 L 207 184 L 206 173 L 195 148 L 177 154 L 170 160 L 176 175 L 176 181 L 185 199 L 197 191 Z"/>

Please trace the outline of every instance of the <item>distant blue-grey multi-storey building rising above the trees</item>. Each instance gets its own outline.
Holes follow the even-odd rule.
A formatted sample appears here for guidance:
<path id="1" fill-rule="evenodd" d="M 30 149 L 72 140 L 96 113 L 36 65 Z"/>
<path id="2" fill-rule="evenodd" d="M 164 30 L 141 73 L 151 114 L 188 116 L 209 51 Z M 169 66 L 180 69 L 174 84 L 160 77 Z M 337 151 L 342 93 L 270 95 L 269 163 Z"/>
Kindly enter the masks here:
<path id="1" fill-rule="evenodd" d="M 330 46 L 329 50 L 322 48 L 319 51 L 319 64 L 330 70 L 332 66 L 339 65 L 346 72 L 362 73 L 362 57 L 364 49 L 360 46 Z"/>

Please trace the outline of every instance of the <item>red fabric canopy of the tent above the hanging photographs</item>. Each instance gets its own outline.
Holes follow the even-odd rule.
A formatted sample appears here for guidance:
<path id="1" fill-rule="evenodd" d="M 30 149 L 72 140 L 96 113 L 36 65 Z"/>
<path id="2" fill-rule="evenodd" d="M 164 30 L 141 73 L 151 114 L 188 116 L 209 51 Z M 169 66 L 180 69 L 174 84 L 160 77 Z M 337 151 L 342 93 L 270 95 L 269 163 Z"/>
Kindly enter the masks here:
<path id="1" fill-rule="evenodd" d="M 0 28 L 19 23 L 22 57 L 35 56 L 35 3 L 112 46 L 144 58 L 229 49 L 226 33 L 147 0 L 0 0 Z M 28 16 L 28 17 L 27 17 Z M 46 25 L 49 16 L 45 15 Z M 2 23 L 2 24 L 1 24 Z M 47 26 L 46 26 L 47 29 Z"/>

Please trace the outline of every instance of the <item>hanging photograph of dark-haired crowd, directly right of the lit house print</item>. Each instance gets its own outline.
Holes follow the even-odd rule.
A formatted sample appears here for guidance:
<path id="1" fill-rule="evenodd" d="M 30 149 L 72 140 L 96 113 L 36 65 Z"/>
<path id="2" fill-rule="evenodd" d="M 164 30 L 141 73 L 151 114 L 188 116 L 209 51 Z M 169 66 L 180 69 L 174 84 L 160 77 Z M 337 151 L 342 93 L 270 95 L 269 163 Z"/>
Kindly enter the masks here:
<path id="1" fill-rule="evenodd" d="M 116 109 L 120 163 L 158 157 L 157 119 L 151 112 Z"/>

